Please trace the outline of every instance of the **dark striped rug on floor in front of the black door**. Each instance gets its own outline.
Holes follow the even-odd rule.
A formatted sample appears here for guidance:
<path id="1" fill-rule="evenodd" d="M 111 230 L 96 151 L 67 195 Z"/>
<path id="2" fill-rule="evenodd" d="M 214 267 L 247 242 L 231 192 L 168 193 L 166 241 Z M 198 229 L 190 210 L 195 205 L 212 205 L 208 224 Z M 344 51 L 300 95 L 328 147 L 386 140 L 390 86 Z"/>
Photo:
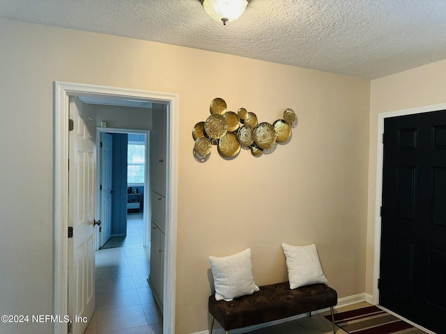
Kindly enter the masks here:
<path id="1" fill-rule="evenodd" d="M 325 318 L 332 320 L 330 315 L 326 315 Z M 424 331 L 390 315 L 377 306 L 334 313 L 334 324 L 349 334 L 425 334 Z"/>

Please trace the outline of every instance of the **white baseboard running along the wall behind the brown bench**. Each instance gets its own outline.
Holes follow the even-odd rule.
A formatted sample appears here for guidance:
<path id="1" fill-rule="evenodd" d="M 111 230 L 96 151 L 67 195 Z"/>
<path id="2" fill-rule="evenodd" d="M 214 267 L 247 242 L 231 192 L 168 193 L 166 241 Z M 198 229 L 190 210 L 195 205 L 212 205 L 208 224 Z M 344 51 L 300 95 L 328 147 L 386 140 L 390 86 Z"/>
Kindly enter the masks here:
<path id="1" fill-rule="evenodd" d="M 334 306 L 334 309 L 341 308 L 346 305 L 360 303 L 361 301 L 367 301 L 367 299 L 371 300 L 371 296 L 369 294 L 366 294 L 365 292 L 362 294 L 355 294 L 353 296 L 342 297 L 337 300 L 337 305 Z M 367 301 L 367 302 L 370 303 L 369 301 Z M 330 310 L 330 308 L 324 308 L 322 310 L 313 311 L 312 314 L 316 315 L 318 313 L 326 312 L 329 310 Z M 238 329 L 234 329 L 233 331 L 231 331 L 231 334 L 241 334 L 241 333 L 246 333 L 246 332 L 250 332 L 250 331 L 256 331 L 261 328 L 266 328 L 266 327 L 274 326 L 277 324 L 283 324 L 284 322 L 293 321 L 296 319 L 307 317 L 307 315 L 308 315 L 308 313 L 303 313 L 302 315 L 295 315 L 293 317 L 270 321 L 270 322 L 266 322 L 264 324 L 238 328 Z M 214 326 L 218 326 L 217 321 L 215 321 Z M 224 334 L 226 332 L 224 331 L 223 328 L 219 327 L 219 328 L 214 328 L 212 333 L 213 334 Z M 206 331 L 194 332 L 194 333 L 190 333 L 190 334 L 209 334 L 209 331 L 206 330 Z"/>

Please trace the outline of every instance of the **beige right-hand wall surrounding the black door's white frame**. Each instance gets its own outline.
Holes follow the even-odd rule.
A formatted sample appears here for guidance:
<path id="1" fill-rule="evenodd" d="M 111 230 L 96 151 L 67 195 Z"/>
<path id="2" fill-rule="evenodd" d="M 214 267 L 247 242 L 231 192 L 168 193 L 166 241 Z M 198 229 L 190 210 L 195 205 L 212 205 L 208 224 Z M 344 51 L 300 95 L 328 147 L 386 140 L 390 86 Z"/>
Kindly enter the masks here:
<path id="1" fill-rule="evenodd" d="M 373 292 L 378 114 L 446 102 L 446 61 L 371 81 L 366 292 Z"/>

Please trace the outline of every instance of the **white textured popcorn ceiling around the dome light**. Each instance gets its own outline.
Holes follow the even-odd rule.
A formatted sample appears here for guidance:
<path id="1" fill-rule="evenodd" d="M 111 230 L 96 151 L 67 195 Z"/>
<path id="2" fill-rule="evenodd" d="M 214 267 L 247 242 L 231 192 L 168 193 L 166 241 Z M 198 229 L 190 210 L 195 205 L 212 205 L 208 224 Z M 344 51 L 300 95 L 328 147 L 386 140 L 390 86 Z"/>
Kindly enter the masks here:
<path id="1" fill-rule="evenodd" d="M 446 58 L 444 0 L 252 0 L 226 26 L 199 0 L 0 0 L 0 17 L 367 79 Z"/>

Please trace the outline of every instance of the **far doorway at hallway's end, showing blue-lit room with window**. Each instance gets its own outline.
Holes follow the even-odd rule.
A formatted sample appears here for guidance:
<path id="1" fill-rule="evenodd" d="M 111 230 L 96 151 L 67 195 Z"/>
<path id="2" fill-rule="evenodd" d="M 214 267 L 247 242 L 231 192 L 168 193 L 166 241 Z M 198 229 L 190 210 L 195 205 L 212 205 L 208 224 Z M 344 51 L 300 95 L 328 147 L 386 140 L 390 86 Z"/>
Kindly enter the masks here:
<path id="1" fill-rule="evenodd" d="M 130 113 L 127 115 L 132 117 Z M 149 246 L 150 132 L 99 127 L 96 138 L 99 148 L 96 189 L 101 226 L 95 249 L 130 244 Z M 132 219 L 139 216 L 137 220 Z"/>

